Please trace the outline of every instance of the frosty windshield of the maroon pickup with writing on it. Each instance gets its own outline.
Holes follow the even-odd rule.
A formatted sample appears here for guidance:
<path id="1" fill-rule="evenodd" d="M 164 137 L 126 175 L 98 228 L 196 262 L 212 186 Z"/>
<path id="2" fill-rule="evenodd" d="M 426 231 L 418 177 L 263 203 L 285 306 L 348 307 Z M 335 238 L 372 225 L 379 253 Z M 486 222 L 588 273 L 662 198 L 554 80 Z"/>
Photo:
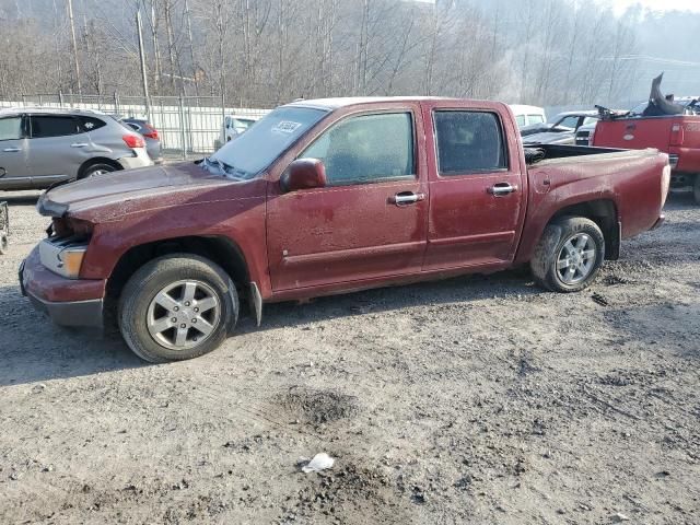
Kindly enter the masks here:
<path id="1" fill-rule="evenodd" d="M 234 178 L 253 178 L 326 114 L 311 107 L 278 107 L 207 159 L 205 166 Z"/>

